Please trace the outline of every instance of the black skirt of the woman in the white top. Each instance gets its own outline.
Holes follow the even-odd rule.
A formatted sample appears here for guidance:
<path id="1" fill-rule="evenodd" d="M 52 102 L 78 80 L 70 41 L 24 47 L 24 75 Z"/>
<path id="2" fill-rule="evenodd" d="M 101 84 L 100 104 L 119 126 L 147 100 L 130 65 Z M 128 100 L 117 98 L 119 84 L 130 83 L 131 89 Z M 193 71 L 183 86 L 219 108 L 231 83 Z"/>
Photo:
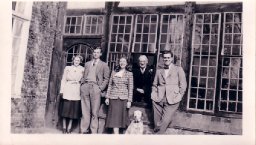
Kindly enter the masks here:
<path id="1" fill-rule="evenodd" d="M 59 115 L 70 119 L 82 117 L 81 101 L 62 99 L 59 106 Z"/>

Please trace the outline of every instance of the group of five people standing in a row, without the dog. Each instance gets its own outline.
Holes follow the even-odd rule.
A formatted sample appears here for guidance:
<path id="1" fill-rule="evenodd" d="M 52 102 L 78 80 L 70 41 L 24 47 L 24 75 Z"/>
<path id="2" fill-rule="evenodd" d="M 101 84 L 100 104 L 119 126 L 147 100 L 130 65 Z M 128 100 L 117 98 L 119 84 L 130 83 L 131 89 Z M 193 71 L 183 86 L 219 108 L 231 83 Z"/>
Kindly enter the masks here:
<path id="1" fill-rule="evenodd" d="M 139 57 L 139 68 L 129 69 L 128 59 L 121 57 L 110 74 L 108 65 L 100 60 L 102 49 L 93 50 L 93 59 L 80 66 L 83 58 L 73 57 L 73 65 L 66 66 L 61 81 L 63 133 L 71 133 L 74 119 L 80 120 L 80 133 L 99 133 L 99 110 L 102 98 L 107 107 L 105 127 L 119 134 L 130 123 L 128 111 L 133 100 L 152 104 L 154 132 L 163 134 L 177 110 L 186 87 L 183 69 L 173 64 L 171 51 L 163 53 L 164 68 L 157 69 L 152 82 L 153 70 L 148 67 L 145 55 Z M 68 124 L 67 124 L 68 121 Z"/>

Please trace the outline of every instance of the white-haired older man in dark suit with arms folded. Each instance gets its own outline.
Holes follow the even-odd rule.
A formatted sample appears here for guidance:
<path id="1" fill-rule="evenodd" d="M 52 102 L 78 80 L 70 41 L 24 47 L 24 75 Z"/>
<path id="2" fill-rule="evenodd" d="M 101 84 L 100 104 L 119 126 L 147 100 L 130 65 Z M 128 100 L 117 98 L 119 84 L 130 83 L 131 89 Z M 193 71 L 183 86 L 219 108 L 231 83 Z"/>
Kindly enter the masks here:
<path id="1" fill-rule="evenodd" d="M 138 60 L 139 68 L 133 70 L 134 102 L 146 103 L 150 107 L 153 69 L 148 66 L 148 58 L 145 55 L 140 55 Z"/>

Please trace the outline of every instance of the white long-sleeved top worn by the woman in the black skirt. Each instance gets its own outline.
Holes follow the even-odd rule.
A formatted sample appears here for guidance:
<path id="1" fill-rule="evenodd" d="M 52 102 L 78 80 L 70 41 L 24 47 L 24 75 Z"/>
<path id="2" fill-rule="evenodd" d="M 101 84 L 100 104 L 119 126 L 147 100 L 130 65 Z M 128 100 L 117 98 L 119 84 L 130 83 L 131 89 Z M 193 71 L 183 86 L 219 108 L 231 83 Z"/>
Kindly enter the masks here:
<path id="1" fill-rule="evenodd" d="M 84 67 L 74 65 L 66 66 L 61 80 L 60 93 L 67 100 L 80 100 L 80 80 L 83 76 Z"/>

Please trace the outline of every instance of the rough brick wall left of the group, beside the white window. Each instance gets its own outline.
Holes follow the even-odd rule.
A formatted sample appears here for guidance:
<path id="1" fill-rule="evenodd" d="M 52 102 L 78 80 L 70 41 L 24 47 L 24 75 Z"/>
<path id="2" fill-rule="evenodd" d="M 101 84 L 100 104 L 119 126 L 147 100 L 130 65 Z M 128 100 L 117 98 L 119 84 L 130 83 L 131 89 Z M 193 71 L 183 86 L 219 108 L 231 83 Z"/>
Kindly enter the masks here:
<path id="1" fill-rule="evenodd" d="M 45 107 L 55 36 L 63 2 L 34 2 L 21 98 L 11 101 L 11 132 L 36 133 L 45 124 Z"/>

